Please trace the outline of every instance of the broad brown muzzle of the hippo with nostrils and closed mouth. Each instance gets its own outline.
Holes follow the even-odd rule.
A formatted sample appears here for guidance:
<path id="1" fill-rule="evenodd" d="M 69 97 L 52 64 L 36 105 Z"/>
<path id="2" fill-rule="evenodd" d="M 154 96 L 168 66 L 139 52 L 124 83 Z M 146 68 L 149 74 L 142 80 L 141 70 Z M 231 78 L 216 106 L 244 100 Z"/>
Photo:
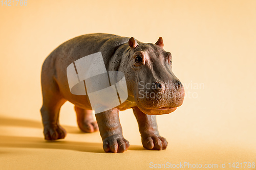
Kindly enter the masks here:
<path id="1" fill-rule="evenodd" d="M 179 80 L 169 82 L 146 83 L 139 82 L 135 92 L 138 108 L 152 115 L 168 114 L 181 106 L 184 99 L 184 87 Z"/>

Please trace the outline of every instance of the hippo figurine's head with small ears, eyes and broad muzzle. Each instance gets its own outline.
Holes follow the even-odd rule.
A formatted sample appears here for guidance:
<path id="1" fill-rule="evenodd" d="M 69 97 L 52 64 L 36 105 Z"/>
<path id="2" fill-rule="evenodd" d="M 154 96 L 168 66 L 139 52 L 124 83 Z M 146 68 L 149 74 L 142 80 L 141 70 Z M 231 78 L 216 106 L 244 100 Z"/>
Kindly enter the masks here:
<path id="1" fill-rule="evenodd" d="M 133 37 L 126 48 L 124 74 L 129 96 L 145 114 L 168 114 L 181 106 L 184 88 L 172 71 L 172 55 L 163 50 L 163 39 L 156 44 Z"/>

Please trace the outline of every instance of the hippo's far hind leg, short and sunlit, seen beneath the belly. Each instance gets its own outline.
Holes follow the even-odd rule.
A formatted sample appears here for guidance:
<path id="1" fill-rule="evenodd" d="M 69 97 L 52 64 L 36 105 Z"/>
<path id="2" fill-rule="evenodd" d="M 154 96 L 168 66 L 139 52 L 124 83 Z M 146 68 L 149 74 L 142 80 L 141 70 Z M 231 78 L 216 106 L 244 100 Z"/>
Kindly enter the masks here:
<path id="1" fill-rule="evenodd" d="M 98 131 L 98 124 L 93 118 L 93 111 L 82 109 L 75 106 L 77 124 L 81 131 L 83 132 L 95 132 Z"/>

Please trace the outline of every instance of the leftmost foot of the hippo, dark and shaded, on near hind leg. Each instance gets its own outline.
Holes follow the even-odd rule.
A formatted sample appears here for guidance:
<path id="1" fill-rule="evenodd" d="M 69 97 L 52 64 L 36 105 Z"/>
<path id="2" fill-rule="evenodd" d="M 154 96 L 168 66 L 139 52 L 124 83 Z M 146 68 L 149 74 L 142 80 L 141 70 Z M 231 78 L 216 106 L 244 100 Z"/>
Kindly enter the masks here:
<path id="1" fill-rule="evenodd" d="M 65 138 L 67 132 L 60 125 L 46 125 L 44 135 L 46 140 L 57 140 Z"/>

